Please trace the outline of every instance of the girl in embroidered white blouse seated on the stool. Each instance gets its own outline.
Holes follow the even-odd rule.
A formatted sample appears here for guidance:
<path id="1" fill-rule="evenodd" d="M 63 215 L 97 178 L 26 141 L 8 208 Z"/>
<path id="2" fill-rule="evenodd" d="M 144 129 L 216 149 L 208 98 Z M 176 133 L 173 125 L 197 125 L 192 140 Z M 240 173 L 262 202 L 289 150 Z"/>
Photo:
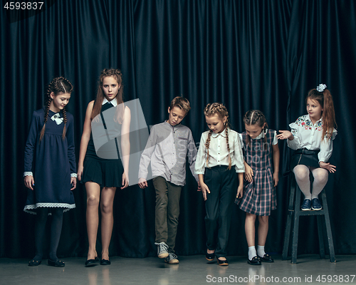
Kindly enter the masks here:
<path id="1" fill-rule="evenodd" d="M 295 180 L 304 194 L 301 206 L 303 211 L 322 209 L 318 195 L 328 182 L 329 172 L 335 172 L 335 165 L 328 160 L 333 153 L 333 140 L 337 135 L 334 128 L 335 111 L 333 97 L 320 84 L 309 91 L 307 99 L 308 115 L 303 115 L 291 123 L 289 130 L 280 130 L 277 138 L 286 140 L 288 147 L 295 150 L 291 160 L 291 169 Z M 313 191 L 310 192 L 309 174 L 314 177 Z"/>

